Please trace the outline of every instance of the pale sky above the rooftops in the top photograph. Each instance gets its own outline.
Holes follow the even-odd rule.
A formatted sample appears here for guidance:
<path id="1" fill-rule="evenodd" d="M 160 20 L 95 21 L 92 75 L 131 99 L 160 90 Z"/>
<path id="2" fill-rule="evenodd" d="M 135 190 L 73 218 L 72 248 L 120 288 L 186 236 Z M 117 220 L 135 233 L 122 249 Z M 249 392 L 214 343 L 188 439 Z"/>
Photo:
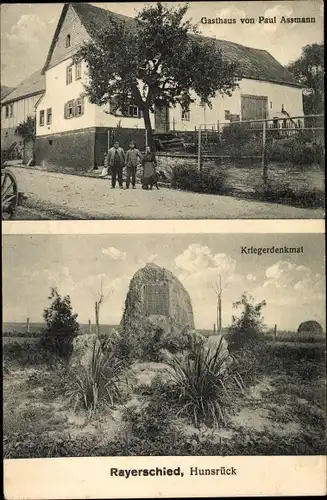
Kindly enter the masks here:
<path id="1" fill-rule="evenodd" d="M 94 3 L 94 2 L 93 2 Z M 183 5 L 167 2 L 167 5 Z M 203 35 L 268 50 L 286 65 L 301 55 L 302 47 L 323 41 L 321 0 L 189 2 L 186 18 L 197 24 Z M 149 3 L 94 3 L 99 7 L 135 16 Z M 57 26 L 63 3 L 4 3 L 1 5 L 1 84 L 17 86 L 42 68 Z M 315 17 L 310 24 L 241 24 L 244 17 Z M 235 18 L 236 24 L 203 24 L 202 18 Z"/>

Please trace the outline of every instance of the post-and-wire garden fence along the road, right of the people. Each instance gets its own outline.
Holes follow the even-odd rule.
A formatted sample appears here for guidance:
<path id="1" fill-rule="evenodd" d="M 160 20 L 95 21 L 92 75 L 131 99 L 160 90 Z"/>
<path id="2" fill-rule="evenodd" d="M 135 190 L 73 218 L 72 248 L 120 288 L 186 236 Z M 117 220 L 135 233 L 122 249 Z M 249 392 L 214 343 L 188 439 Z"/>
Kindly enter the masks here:
<path id="1" fill-rule="evenodd" d="M 280 161 L 296 162 L 296 154 L 292 154 L 292 139 L 298 140 L 298 146 L 302 144 L 304 163 L 312 155 L 316 155 L 318 163 L 324 163 L 322 114 L 199 125 L 194 132 L 193 147 L 199 170 L 202 169 L 203 161 L 210 158 L 257 160 L 262 167 L 262 177 L 266 180 L 268 161 L 278 159 L 278 150 Z M 310 149 L 310 145 L 314 148 Z M 281 151 L 283 147 L 284 152 Z M 310 158 L 305 158 L 305 154 L 311 154 Z"/>

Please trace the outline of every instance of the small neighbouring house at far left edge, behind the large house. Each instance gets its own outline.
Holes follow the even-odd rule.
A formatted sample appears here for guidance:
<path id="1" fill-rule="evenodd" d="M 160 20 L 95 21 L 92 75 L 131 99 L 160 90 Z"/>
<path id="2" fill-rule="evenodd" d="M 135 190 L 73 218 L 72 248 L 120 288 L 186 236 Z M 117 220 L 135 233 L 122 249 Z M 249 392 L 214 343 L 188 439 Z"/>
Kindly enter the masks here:
<path id="1" fill-rule="evenodd" d="M 23 80 L 1 100 L 1 150 L 22 154 L 23 139 L 15 134 L 17 125 L 35 116 L 35 106 L 45 91 L 41 70 Z"/>

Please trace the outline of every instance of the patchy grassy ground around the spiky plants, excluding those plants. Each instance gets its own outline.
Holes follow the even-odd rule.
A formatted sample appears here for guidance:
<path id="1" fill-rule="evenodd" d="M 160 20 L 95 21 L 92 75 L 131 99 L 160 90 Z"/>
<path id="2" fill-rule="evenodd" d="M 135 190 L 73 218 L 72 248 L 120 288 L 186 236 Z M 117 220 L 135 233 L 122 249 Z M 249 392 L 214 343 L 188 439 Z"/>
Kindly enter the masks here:
<path id="1" fill-rule="evenodd" d="M 5 458 L 325 454 L 325 344 L 265 342 L 239 358 L 244 388 L 219 425 L 179 414 L 163 362 L 119 373 L 121 397 L 94 412 L 69 397 L 65 363 L 33 344 L 4 345 Z M 74 408 L 75 406 L 75 408 Z"/>

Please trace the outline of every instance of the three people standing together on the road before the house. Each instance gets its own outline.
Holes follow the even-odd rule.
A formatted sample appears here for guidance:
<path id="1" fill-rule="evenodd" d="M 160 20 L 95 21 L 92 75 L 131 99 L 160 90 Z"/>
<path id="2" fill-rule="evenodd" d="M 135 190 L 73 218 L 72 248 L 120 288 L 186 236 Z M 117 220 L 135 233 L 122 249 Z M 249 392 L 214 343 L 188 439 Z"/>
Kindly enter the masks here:
<path id="1" fill-rule="evenodd" d="M 126 189 L 132 185 L 132 189 L 136 189 L 136 172 L 139 167 L 143 168 L 142 172 L 142 188 L 152 189 L 153 186 L 158 188 L 157 184 L 157 160 L 151 148 L 146 147 L 145 154 L 142 156 L 140 151 L 135 147 L 135 143 L 131 142 L 128 151 L 125 153 L 123 148 L 116 141 L 108 154 L 104 158 L 104 172 L 111 172 L 111 188 L 118 185 L 123 189 L 123 169 L 126 167 Z"/>

